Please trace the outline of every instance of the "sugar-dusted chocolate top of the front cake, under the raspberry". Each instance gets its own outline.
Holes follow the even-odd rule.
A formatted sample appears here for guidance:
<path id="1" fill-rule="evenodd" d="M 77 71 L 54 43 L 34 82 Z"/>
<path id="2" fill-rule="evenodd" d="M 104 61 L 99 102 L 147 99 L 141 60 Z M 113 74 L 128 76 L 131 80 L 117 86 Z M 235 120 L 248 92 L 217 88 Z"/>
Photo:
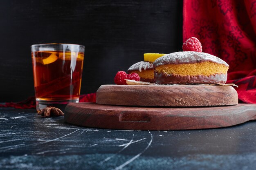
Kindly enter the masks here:
<path id="1" fill-rule="evenodd" d="M 218 64 L 225 64 L 225 66 L 229 66 L 229 64 L 227 64 L 225 61 L 208 53 L 199 53 L 195 51 L 180 51 L 159 57 L 153 63 L 153 67 L 155 68 L 156 66 L 164 64 L 189 64 L 207 61 L 215 62 Z"/>

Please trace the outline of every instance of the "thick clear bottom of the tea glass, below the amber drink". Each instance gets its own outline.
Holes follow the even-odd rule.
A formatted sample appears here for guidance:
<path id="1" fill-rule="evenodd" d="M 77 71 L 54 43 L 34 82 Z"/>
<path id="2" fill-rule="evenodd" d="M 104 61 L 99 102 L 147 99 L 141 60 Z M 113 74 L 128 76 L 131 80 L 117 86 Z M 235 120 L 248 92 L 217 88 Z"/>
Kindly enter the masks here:
<path id="1" fill-rule="evenodd" d="M 52 106 L 61 109 L 64 112 L 65 107 L 69 103 L 78 103 L 79 99 L 70 99 L 70 100 L 63 100 L 63 101 L 49 101 L 49 100 L 40 100 L 36 99 L 36 110 L 39 112 L 43 108 Z"/>

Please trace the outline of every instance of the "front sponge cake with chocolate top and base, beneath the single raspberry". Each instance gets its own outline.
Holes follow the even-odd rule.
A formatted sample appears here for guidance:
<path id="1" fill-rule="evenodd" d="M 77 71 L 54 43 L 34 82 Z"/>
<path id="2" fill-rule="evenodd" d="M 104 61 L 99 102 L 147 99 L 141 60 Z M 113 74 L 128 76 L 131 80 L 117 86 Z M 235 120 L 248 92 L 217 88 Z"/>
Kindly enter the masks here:
<path id="1" fill-rule="evenodd" d="M 216 84 L 227 82 L 229 65 L 208 53 L 181 51 L 153 63 L 157 84 Z"/>

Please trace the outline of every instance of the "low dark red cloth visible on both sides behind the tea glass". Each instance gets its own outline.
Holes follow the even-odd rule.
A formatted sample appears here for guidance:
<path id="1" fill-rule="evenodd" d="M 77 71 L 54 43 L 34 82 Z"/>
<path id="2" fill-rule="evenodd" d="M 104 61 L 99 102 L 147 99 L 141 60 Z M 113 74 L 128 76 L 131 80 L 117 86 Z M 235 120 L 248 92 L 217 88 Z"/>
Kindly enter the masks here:
<path id="1" fill-rule="evenodd" d="M 96 102 L 96 93 L 90 93 L 87 95 L 80 95 L 79 102 Z M 36 108 L 36 98 L 29 97 L 22 102 L 8 102 L 5 104 L 0 104 L 0 107 L 13 107 L 13 108 Z"/>

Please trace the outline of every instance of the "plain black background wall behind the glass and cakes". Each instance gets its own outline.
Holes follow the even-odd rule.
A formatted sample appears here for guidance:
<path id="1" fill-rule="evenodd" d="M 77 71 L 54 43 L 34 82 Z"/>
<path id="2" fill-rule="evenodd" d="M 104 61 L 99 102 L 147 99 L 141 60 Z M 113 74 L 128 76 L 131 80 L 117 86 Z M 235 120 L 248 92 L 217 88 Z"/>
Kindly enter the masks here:
<path id="1" fill-rule="evenodd" d="M 182 0 L 0 0 L 0 102 L 34 95 L 30 46 L 85 46 L 81 94 L 143 53 L 182 50 Z"/>

